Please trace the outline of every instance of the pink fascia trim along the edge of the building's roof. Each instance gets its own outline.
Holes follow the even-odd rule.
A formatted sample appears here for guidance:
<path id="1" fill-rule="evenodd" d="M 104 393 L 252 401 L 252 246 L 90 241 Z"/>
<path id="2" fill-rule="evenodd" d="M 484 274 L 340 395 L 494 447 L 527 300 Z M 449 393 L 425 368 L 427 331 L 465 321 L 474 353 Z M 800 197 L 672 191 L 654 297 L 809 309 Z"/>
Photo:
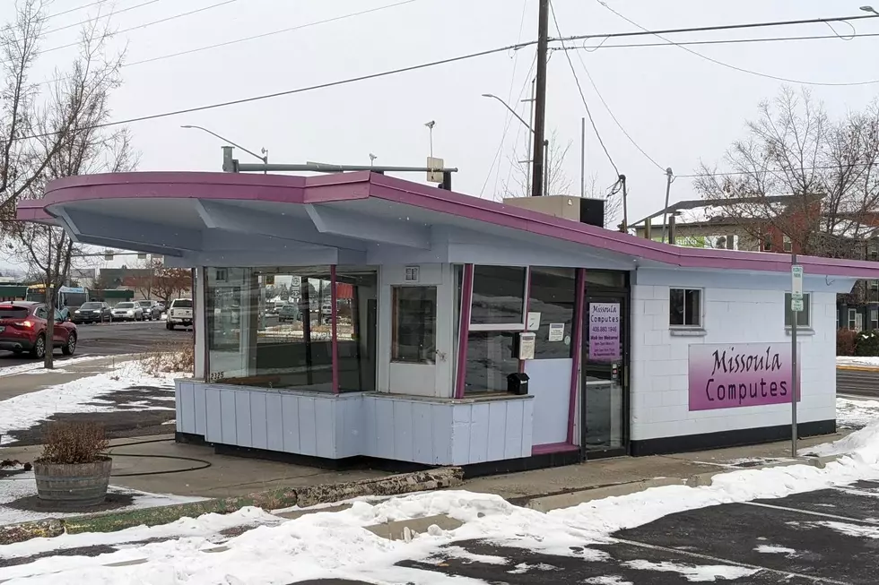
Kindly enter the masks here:
<path id="1" fill-rule="evenodd" d="M 71 176 L 48 184 L 41 200 L 19 204 L 18 218 L 48 219 L 53 204 L 88 199 L 194 198 L 289 203 L 343 202 L 373 197 L 474 219 L 611 252 L 687 268 L 788 271 L 784 254 L 687 248 L 558 219 L 536 211 L 360 171 L 321 176 L 139 172 Z M 801 256 L 806 273 L 879 279 L 879 263 Z"/>

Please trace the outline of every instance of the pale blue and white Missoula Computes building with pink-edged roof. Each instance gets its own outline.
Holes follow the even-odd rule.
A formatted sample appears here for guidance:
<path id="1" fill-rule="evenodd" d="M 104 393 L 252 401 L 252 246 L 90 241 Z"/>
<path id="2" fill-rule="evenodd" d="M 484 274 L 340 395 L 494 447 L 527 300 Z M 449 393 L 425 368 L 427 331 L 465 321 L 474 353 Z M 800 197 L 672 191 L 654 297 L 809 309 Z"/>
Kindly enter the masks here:
<path id="1" fill-rule="evenodd" d="M 180 441 L 484 473 L 790 434 L 785 256 L 664 245 L 369 172 L 76 176 L 18 212 L 196 269 Z M 879 265 L 801 263 L 799 433 L 827 434 L 836 296 Z M 265 288 L 282 277 L 299 277 L 300 311 L 278 323 Z"/>

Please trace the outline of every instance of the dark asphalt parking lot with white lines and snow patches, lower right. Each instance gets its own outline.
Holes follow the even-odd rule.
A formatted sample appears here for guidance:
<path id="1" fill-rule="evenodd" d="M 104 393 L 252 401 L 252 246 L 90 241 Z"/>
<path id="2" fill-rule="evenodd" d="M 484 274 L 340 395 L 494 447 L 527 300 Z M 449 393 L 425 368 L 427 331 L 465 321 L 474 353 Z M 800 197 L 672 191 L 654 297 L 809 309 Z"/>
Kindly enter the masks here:
<path id="1" fill-rule="evenodd" d="M 671 514 L 606 544 L 584 543 L 572 556 L 502 542 L 456 542 L 426 562 L 399 564 L 509 585 L 872 585 L 879 582 L 879 482 Z"/>

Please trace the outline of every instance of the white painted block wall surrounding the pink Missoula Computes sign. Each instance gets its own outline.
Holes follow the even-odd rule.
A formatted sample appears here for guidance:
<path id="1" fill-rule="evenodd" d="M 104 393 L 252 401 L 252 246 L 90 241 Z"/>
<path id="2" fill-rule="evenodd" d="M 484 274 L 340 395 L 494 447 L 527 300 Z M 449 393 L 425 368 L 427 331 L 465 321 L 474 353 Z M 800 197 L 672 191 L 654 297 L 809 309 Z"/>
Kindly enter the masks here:
<path id="1" fill-rule="evenodd" d="M 789 343 L 784 293 L 776 290 L 703 288 L 703 337 L 677 337 L 668 327 L 669 287 L 631 290 L 631 438 L 714 433 L 790 424 L 790 405 L 689 411 L 691 344 Z M 806 291 L 811 292 L 811 291 Z M 836 293 L 812 292 L 814 335 L 801 335 L 801 422 L 836 417 Z"/>

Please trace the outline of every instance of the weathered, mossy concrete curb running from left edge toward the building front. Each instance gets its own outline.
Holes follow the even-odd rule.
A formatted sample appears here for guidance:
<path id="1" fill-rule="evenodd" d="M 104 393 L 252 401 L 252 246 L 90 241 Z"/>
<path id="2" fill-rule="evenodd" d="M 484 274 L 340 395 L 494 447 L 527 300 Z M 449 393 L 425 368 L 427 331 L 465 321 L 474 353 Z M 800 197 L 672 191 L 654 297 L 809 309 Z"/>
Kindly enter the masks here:
<path id="1" fill-rule="evenodd" d="M 180 518 L 195 518 L 210 512 L 228 514 L 246 506 L 255 506 L 264 510 L 278 510 L 295 505 L 308 507 L 318 503 L 339 502 L 360 495 L 402 495 L 460 486 L 463 483 L 463 469 L 440 468 L 326 486 L 280 488 L 240 497 L 142 508 L 128 512 L 100 512 L 63 519 L 36 520 L 0 526 L 0 545 L 23 542 L 30 538 L 52 538 L 65 533 L 115 532 L 134 526 L 157 526 Z"/>

